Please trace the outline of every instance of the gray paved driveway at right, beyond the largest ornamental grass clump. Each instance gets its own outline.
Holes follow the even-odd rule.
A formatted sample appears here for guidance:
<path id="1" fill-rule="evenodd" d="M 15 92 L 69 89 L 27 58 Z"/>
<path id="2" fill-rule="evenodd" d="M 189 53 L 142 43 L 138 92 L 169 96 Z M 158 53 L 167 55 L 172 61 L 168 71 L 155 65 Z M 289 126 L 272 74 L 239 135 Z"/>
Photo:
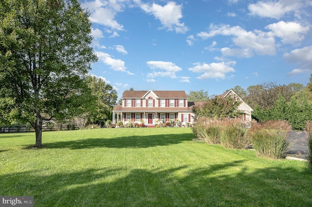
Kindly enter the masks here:
<path id="1" fill-rule="evenodd" d="M 309 153 L 307 134 L 302 131 L 292 131 L 289 140 L 292 142 L 292 145 L 287 154 L 305 159 Z"/>

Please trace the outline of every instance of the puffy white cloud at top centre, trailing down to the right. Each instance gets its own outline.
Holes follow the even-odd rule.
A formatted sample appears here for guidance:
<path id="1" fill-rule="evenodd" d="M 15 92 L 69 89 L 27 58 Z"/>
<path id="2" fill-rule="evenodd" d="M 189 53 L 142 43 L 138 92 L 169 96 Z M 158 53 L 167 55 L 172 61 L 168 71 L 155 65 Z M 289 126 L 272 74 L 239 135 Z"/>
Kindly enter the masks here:
<path id="1" fill-rule="evenodd" d="M 176 2 L 169 1 L 165 6 L 153 3 L 141 4 L 141 9 L 146 13 L 154 15 L 156 19 L 159 19 L 163 28 L 167 28 L 169 31 L 175 30 L 176 33 L 186 33 L 189 28 L 183 23 L 180 22 L 182 18 L 182 5 L 176 5 Z"/>

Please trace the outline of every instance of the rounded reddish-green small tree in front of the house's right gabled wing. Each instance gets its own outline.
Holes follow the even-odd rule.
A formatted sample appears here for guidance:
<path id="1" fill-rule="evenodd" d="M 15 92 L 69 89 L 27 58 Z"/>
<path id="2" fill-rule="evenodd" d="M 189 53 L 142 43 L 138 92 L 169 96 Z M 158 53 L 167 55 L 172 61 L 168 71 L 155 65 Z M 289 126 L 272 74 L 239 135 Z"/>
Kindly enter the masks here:
<path id="1" fill-rule="evenodd" d="M 203 106 L 194 107 L 193 113 L 197 117 L 209 117 L 213 119 L 235 118 L 243 114 L 237 110 L 237 106 L 241 104 L 239 101 L 234 101 L 232 97 L 222 98 L 215 96 L 207 100 Z"/>

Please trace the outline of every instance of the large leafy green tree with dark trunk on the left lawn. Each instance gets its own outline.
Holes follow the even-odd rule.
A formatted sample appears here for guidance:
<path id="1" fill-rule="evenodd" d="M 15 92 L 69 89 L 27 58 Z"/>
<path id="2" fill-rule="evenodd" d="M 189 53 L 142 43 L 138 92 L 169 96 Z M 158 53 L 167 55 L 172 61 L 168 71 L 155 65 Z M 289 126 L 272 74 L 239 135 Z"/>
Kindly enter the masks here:
<path id="1" fill-rule="evenodd" d="M 29 121 L 36 147 L 42 121 L 70 118 L 88 102 L 85 79 L 97 61 L 88 17 L 78 0 L 0 0 L 0 103 L 12 115 L 0 118 Z"/>

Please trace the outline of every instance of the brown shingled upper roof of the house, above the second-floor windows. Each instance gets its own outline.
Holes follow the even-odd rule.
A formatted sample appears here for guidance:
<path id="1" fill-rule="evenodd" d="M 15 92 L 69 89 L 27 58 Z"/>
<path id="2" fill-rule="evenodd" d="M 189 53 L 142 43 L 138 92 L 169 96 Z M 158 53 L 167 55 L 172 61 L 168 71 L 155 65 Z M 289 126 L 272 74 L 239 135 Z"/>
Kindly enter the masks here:
<path id="1" fill-rule="evenodd" d="M 123 99 L 144 98 L 148 93 L 153 92 L 159 99 L 161 98 L 181 98 L 187 99 L 187 95 L 184 90 L 126 90 L 123 93 Z"/>

